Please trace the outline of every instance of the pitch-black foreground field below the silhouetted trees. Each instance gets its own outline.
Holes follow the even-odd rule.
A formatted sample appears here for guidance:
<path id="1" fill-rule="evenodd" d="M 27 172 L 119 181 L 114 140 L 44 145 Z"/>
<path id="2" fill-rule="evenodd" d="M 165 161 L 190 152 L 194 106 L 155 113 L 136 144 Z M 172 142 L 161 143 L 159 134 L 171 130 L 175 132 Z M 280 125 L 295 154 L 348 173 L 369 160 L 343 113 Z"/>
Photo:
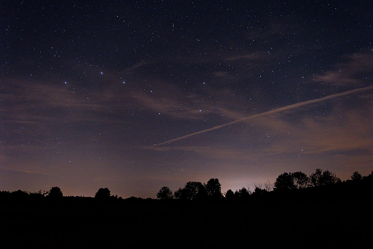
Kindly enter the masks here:
<path id="1" fill-rule="evenodd" d="M 45 198 L 44 198 L 45 199 Z M 371 244 L 371 188 L 203 202 L 93 198 L 1 202 L 2 248 L 20 246 L 352 246 Z"/>

